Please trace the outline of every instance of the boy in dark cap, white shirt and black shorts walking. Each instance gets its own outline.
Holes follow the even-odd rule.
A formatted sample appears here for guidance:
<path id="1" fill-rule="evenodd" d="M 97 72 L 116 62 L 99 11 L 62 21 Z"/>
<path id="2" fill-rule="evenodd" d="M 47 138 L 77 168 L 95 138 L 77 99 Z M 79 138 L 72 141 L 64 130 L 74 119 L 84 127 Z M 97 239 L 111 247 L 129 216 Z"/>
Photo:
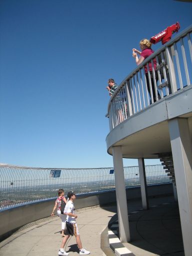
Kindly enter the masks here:
<path id="1" fill-rule="evenodd" d="M 78 226 L 75 221 L 75 219 L 77 218 L 77 215 L 74 212 L 75 209 L 73 204 L 73 201 L 76 199 L 75 193 L 70 191 L 68 192 L 67 196 L 68 196 L 68 201 L 64 208 L 64 213 L 66 214 L 66 227 L 64 231 L 65 237 L 61 242 L 58 255 L 69 255 L 68 252 L 64 251 L 64 245 L 66 244 L 66 241 L 68 240 L 70 235 L 75 235 L 76 244 L 78 245 L 78 248 L 79 248 L 79 255 L 90 254 L 90 251 L 82 248 Z"/>

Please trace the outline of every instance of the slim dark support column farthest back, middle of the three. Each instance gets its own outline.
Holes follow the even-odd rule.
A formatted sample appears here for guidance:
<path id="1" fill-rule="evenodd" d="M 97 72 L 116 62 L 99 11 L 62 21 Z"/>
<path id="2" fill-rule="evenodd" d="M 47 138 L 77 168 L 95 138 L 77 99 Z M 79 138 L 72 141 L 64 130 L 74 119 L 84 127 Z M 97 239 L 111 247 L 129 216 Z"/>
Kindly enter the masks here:
<path id="1" fill-rule="evenodd" d="M 140 191 L 141 191 L 141 199 L 142 199 L 142 208 L 148 209 L 148 194 L 146 188 L 146 175 L 144 168 L 144 158 L 138 158 L 138 169 L 140 176 Z"/>

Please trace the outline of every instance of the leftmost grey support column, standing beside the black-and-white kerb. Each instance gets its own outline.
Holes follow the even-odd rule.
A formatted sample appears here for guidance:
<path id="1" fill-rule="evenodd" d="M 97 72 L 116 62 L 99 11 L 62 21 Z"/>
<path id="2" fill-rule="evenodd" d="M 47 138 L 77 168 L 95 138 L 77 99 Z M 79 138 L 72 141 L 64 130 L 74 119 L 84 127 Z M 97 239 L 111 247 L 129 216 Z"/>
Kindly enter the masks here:
<path id="1" fill-rule="evenodd" d="M 112 157 L 113 157 L 113 165 L 114 165 L 119 236 L 120 236 L 121 242 L 127 242 L 130 240 L 130 233 L 129 233 L 129 225 L 128 225 L 126 190 L 125 190 L 125 182 L 124 182 L 124 169 L 123 169 L 123 162 L 122 162 L 121 146 L 112 147 Z"/>

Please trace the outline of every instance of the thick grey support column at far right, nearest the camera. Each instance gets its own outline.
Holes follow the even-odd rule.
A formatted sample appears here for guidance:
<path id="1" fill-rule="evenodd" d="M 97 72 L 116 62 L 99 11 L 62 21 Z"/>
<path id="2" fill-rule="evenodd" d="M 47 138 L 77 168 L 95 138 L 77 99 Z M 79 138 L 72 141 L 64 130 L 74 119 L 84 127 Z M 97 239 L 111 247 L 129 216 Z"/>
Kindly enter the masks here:
<path id="1" fill-rule="evenodd" d="M 187 118 L 168 121 L 185 256 L 192 255 L 192 146 Z"/>

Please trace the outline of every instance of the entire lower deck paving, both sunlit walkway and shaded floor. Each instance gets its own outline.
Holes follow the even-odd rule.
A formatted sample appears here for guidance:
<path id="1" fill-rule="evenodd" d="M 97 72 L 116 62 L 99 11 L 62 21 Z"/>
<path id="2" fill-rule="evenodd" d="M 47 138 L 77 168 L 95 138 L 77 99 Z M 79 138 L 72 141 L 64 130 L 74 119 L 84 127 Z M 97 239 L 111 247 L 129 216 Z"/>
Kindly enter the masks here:
<path id="1" fill-rule="evenodd" d="M 184 256 L 178 205 L 173 197 L 150 198 L 149 204 L 149 210 L 139 210 L 142 208 L 140 200 L 127 201 L 131 241 L 123 243 L 124 246 L 136 256 Z M 82 245 L 91 255 L 114 255 L 110 249 L 105 249 L 104 254 L 100 244 L 107 247 L 106 227 L 109 221 L 116 220 L 116 207 L 86 209 L 77 215 Z M 56 216 L 29 226 L 2 241 L 0 255 L 57 255 L 62 239 L 59 230 L 60 219 Z M 74 237 L 68 240 L 65 250 L 69 255 L 78 255 Z"/>

